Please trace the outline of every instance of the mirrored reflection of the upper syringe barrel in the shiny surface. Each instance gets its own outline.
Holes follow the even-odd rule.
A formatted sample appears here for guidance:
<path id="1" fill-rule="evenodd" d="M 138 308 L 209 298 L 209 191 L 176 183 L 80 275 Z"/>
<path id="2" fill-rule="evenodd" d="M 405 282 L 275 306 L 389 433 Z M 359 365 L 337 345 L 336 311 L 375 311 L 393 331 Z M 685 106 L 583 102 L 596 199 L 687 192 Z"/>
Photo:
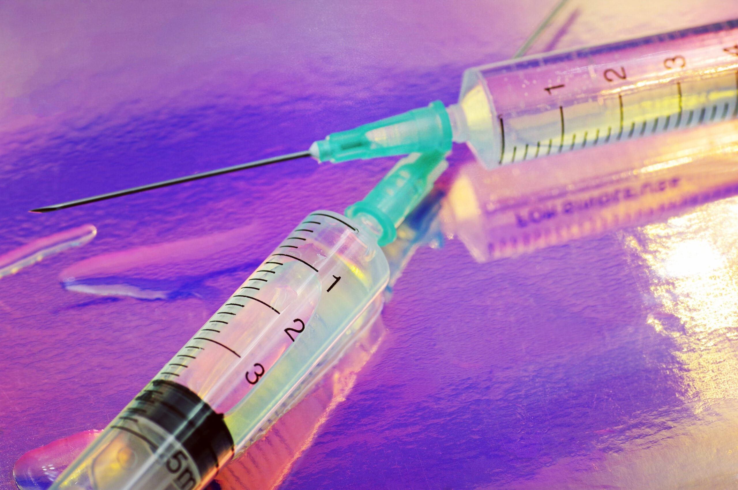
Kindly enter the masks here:
<path id="1" fill-rule="evenodd" d="M 658 221 L 738 193 L 738 123 L 486 172 L 462 165 L 440 220 L 477 261 Z"/>

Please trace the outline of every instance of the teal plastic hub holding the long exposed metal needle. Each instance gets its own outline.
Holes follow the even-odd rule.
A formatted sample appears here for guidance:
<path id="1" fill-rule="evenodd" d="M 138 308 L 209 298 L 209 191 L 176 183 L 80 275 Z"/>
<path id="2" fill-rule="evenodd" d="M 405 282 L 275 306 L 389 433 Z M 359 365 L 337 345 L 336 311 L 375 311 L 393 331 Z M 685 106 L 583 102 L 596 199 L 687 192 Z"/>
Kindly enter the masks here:
<path id="1" fill-rule="evenodd" d="M 314 142 L 310 153 L 318 162 L 376 158 L 451 150 L 449 114 L 440 100 L 387 119 L 340 131 Z"/>

